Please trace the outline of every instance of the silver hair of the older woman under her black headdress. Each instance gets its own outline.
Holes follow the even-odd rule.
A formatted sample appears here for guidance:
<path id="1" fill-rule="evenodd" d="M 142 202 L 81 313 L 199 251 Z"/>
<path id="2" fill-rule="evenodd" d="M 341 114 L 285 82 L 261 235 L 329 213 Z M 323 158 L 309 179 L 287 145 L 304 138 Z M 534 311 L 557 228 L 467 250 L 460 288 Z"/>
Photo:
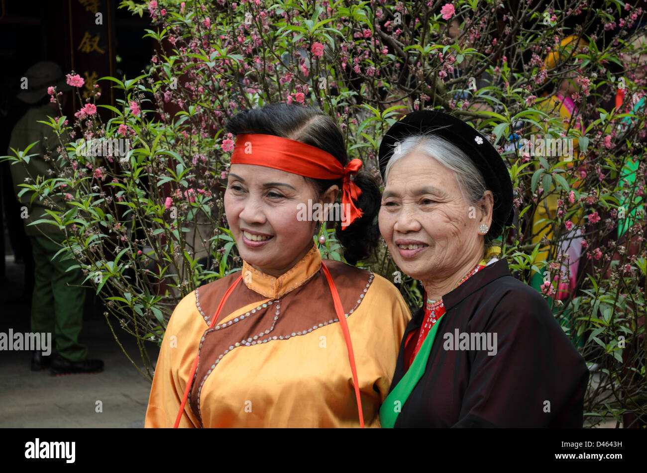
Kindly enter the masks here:
<path id="1" fill-rule="evenodd" d="M 485 180 L 469 156 L 454 143 L 434 134 L 416 134 L 408 136 L 402 142 L 396 142 L 393 154 L 384 170 L 385 183 L 393 164 L 414 151 L 420 151 L 454 171 L 458 188 L 463 198 L 470 204 L 476 205 L 483 198 L 483 193 L 487 191 Z"/>

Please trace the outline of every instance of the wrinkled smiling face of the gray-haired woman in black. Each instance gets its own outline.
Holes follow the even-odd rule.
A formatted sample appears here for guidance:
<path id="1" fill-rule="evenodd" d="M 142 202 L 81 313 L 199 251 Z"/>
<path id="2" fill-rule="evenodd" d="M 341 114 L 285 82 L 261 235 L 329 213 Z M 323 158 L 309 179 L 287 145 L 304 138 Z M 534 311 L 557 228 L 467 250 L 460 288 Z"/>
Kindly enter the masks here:
<path id="1" fill-rule="evenodd" d="M 454 172 L 435 159 L 411 152 L 391 167 L 380 233 L 395 263 L 414 279 L 452 277 L 480 255 L 480 218 L 479 209 L 463 198 Z"/>

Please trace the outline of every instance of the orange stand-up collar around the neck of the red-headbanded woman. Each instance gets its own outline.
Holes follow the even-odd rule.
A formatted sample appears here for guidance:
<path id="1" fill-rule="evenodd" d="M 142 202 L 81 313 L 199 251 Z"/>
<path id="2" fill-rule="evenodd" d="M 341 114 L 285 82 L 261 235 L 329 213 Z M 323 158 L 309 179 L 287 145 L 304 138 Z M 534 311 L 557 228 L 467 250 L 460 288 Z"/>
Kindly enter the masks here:
<path id="1" fill-rule="evenodd" d="M 265 297 L 279 299 L 310 280 L 322 266 L 319 249 L 314 246 L 292 268 L 278 278 L 253 268 L 243 260 L 243 282 L 252 291 Z"/>

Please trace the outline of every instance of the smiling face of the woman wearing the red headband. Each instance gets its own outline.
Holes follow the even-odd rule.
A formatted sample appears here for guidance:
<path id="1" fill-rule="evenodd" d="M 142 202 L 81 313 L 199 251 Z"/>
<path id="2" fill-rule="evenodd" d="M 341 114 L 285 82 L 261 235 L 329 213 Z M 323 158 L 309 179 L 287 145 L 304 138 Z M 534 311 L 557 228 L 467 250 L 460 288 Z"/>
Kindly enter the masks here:
<path id="1" fill-rule="evenodd" d="M 298 220 L 298 204 L 315 202 L 303 176 L 251 164 L 232 164 L 225 213 L 241 257 L 278 277 L 313 246 L 316 222 Z"/>

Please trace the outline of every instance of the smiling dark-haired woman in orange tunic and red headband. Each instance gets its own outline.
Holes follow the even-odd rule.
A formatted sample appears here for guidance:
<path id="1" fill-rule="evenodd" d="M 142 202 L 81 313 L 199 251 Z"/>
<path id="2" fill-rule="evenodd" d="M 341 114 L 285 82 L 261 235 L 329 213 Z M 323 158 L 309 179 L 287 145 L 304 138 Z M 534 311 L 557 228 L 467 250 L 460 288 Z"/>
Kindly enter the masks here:
<path id="1" fill-rule="evenodd" d="M 336 220 L 346 260 L 366 257 L 377 183 L 362 171 L 351 180 L 362 163 L 347 162 L 321 110 L 270 104 L 226 128 L 236 147 L 225 212 L 243 269 L 173 311 L 146 426 L 379 426 L 410 311 L 388 280 L 322 260 L 313 241 L 319 220 Z"/>

